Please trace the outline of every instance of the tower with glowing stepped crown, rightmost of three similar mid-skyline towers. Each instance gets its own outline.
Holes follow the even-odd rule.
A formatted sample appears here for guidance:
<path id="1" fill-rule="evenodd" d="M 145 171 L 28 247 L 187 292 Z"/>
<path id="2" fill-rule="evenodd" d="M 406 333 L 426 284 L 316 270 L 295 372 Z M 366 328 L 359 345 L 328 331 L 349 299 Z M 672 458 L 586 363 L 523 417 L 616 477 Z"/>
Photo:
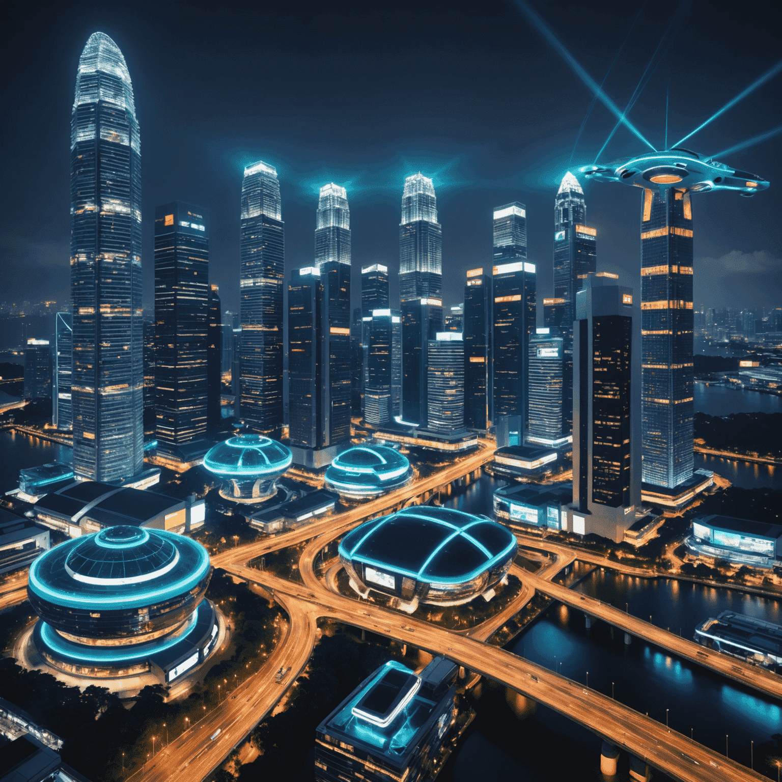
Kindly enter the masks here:
<path id="1" fill-rule="evenodd" d="M 426 425 L 429 340 L 443 331 L 443 234 L 432 180 L 407 177 L 402 194 L 399 287 L 402 307 L 402 406 L 407 423 Z"/>

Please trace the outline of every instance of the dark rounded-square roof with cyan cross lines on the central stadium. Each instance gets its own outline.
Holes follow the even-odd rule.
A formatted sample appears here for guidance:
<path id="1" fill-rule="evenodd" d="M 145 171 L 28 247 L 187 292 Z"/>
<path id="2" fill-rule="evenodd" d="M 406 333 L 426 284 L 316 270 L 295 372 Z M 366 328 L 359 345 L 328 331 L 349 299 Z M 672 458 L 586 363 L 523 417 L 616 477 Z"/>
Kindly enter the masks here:
<path id="1" fill-rule="evenodd" d="M 339 543 L 339 556 L 363 569 L 365 582 L 383 585 L 384 574 L 398 574 L 444 586 L 509 566 L 517 545 L 510 530 L 485 516 L 414 506 L 353 529 Z"/>

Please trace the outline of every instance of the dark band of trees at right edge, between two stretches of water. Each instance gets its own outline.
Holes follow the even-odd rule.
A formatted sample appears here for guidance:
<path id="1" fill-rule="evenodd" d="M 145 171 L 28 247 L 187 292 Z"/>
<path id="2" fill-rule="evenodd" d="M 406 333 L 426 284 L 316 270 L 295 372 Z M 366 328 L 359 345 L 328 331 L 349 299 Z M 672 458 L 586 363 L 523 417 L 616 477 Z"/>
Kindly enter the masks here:
<path id="1" fill-rule="evenodd" d="M 695 439 L 709 448 L 737 454 L 782 456 L 782 413 L 696 413 Z"/>

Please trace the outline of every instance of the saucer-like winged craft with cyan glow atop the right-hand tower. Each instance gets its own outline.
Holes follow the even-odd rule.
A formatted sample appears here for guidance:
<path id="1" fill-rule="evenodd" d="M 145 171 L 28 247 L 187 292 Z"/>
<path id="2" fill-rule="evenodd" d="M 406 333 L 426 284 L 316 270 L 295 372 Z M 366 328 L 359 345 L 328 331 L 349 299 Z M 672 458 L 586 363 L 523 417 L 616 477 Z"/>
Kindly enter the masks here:
<path id="1" fill-rule="evenodd" d="M 583 166 L 579 169 L 587 179 L 601 182 L 622 182 L 638 188 L 680 188 L 692 192 L 735 190 L 749 198 L 766 190 L 769 182 L 757 174 L 741 171 L 698 155 L 689 149 L 668 149 L 648 152 L 619 166 Z"/>

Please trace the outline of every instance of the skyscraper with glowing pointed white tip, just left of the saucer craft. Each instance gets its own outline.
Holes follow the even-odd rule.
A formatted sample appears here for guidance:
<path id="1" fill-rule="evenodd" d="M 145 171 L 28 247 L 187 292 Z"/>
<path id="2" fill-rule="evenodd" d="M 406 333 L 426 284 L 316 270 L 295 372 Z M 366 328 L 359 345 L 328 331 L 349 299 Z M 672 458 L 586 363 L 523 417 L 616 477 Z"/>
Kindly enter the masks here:
<path id="1" fill-rule="evenodd" d="M 549 328 L 562 335 L 563 404 L 565 421 L 572 427 L 572 340 L 576 293 L 587 274 L 597 270 L 597 231 L 587 225 L 587 203 L 579 181 L 569 171 L 554 199 L 554 299 L 543 302 Z M 549 322 L 551 321 L 551 323 Z M 558 321 L 554 325 L 555 321 Z"/>

